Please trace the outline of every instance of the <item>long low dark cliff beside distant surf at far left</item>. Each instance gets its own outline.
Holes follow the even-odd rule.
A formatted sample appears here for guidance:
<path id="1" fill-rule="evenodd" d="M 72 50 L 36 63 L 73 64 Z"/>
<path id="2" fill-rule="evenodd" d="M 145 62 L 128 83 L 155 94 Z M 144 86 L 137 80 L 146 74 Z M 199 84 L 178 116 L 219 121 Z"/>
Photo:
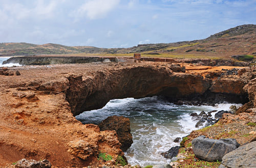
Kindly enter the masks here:
<path id="1" fill-rule="evenodd" d="M 82 64 L 92 62 L 104 62 L 106 59 L 116 62 L 115 57 L 45 57 L 45 56 L 27 56 L 12 57 L 3 62 L 4 64 L 18 63 L 20 65 L 50 65 L 50 64 Z"/>

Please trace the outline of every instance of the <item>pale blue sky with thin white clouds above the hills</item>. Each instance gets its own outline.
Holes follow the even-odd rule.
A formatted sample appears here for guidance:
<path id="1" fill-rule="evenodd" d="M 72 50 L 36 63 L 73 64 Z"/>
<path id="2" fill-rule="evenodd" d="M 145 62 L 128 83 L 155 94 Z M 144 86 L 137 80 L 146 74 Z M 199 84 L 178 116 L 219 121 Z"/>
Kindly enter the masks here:
<path id="1" fill-rule="evenodd" d="M 256 0 L 0 0 L 0 42 L 131 47 L 256 24 Z"/>

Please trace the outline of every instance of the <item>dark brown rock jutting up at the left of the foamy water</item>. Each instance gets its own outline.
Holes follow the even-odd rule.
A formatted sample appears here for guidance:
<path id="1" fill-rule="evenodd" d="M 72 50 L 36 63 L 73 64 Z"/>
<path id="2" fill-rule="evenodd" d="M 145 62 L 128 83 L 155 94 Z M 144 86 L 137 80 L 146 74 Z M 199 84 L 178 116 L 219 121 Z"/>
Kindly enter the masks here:
<path id="1" fill-rule="evenodd" d="M 111 116 L 99 124 L 101 131 L 115 130 L 118 135 L 118 141 L 121 143 L 121 149 L 125 152 L 133 144 L 131 134 L 130 120 L 122 116 Z"/>

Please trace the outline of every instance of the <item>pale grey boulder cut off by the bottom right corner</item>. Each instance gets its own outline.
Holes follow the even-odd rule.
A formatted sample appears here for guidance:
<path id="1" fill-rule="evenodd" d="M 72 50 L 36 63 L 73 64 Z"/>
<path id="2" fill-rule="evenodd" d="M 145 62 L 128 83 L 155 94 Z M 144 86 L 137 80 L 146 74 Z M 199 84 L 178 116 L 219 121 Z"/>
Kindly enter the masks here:
<path id="1" fill-rule="evenodd" d="M 256 142 L 252 142 L 227 153 L 222 158 L 219 168 L 227 167 L 255 167 L 256 166 Z"/>

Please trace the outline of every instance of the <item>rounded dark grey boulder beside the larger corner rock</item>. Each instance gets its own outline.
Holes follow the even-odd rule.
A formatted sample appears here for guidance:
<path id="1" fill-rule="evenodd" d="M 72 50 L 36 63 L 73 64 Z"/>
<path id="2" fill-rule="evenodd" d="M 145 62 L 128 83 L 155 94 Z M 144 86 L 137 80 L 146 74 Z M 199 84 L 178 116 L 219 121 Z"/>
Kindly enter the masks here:
<path id="1" fill-rule="evenodd" d="M 222 157 L 237 149 L 240 145 L 236 139 L 209 139 L 201 135 L 192 140 L 192 149 L 196 157 L 206 161 L 222 160 Z"/>

